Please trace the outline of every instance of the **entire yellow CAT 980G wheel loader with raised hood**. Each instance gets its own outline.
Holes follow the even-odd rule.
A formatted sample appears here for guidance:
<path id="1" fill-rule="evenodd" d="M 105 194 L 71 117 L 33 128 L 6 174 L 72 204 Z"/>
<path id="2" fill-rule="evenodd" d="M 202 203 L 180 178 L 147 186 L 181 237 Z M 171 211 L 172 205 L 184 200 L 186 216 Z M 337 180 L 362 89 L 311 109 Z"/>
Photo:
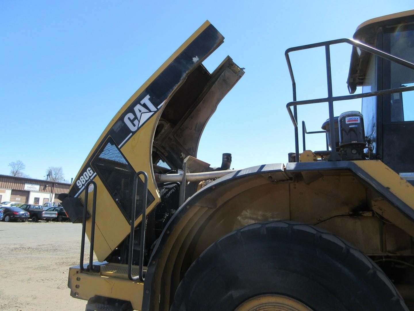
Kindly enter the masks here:
<path id="1" fill-rule="evenodd" d="M 234 170 L 229 153 L 220 167 L 197 158 L 207 121 L 244 74 L 229 56 L 212 73 L 203 66 L 223 41 L 202 24 L 59 195 L 82 223 L 71 296 L 87 311 L 414 310 L 414 10 L 368 20 L 353 39 L 286 50 L 286 164 Z M 332 93 L 337 44 L 351 46 L 344 96 Z M 327 97 L 296 100 L 289 55 L 313 48 L 325 51 Z M 334 114 L 335 102 L 358 98 L 361 111 Z M 315 103 L 329 119 L 307 131 L 297 111 Z M 315 133 L 326 150 L 306 149 Z"/>

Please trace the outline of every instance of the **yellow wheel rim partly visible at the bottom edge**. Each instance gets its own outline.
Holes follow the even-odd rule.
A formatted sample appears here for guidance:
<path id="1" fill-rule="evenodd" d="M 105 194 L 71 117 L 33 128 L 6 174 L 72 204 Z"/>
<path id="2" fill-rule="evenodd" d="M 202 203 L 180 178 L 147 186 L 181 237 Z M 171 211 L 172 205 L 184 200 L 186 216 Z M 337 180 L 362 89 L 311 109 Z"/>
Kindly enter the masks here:
<path id="1" fill-rule="evenodd" d="M 296 299 L 266 294 L 244 301 L 235 311 L 312 311 Z"/>

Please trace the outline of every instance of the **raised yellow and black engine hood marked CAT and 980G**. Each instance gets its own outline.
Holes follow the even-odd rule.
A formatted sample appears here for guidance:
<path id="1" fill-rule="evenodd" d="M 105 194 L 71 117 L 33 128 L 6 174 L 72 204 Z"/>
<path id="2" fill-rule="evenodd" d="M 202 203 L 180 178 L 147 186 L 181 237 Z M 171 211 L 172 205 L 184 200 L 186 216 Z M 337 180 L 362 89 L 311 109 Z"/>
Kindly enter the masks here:
<path id="1" fill-rule="evenodd" d="M 82 221 L 85 185 L 96 182 L 95 254 L 99 261 L 128 236 L 130 222 L 141 222 L 142 187 L 132 217 L 132 188 L 136 172 L 148 175 L 147 212 L 160 202 L 154 180 L 156 164 L 182 168 L 183 159 L 196 156 L 207 121 L 221 99 L 243 75 L 230 57 L 209 73 L 202 61 L 224 41 L 208 21 L 123 105 L 95 143 L 68 195 L 60 195 L 72 222 Z M 90 185 L 88 191 L 92 192 Z M 88 199 L 91 214 L 92 198 Z M 116 226 L 114 226 L 116 224 Z M 90 238 L 91 221 L 86 233 Z"/>

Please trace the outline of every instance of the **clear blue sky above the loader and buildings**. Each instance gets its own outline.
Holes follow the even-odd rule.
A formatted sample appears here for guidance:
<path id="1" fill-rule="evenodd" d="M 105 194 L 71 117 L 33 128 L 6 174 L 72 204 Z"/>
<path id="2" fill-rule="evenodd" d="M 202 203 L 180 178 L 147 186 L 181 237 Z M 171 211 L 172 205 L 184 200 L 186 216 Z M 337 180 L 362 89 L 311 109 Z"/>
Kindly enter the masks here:
<path id="1" fill-rule="evenodd" d="M 230 55 L 246 74 L 219 104 L 198 158 L 232 168 L 286 163 L 294 128 L 284 51 L 351 37 L 367 19 L 412 9 L 412 1 L 11 1 L 0 2 L 0 174 L 22 160 L 43 179 L 62 166 L 67 180 L 118 109 L 206 19 L 224 44 L 205 61 L 210 71 Z M 350 48 L 332 49 L 335 95 L 347 94 Z M 292 56 L 298 99 L 326 96 L 323 51 Z M 335 114 L 360 110 L 335 106 Z M 298 110 L 319 130 L 327 105 Z M 324 136 L 308 148 L 324 147 Z"/>

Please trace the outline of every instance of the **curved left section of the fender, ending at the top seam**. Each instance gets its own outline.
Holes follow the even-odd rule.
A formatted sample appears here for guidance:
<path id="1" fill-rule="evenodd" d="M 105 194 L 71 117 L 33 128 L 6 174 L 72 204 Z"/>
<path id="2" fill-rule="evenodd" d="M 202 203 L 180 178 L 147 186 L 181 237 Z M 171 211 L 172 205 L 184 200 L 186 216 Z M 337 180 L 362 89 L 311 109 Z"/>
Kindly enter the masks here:
<path id="1" fill-rule="evenodd" d="M 197 245 L 195 248 L 197 243 L 194 238 L 197 239 L 202 233 L 206 220 L 214 214 L 217 207 L 255 186 L 289 180 L 281 163 L 254 166 L 223 176 L 188 198 L 164 228 L 149 260 L 142 310 L 169 309 L 170 300 L 180 281 L 180 275 L 177 274 L 180 269 L 177 267 L 183 265 L 187 252 L 198 253 L 204 250 L 205 245 Z M 166 280 L 171 276 L 171 280 Z"/>

